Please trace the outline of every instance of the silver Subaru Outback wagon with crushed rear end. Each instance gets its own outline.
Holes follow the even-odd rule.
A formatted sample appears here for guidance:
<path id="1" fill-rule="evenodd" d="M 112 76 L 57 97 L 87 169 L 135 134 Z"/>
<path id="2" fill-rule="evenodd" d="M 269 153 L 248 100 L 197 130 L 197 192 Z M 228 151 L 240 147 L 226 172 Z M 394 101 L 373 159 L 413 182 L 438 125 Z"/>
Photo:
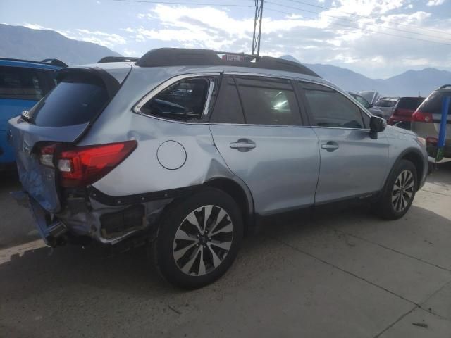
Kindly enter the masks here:
<path id="1" fill-rule="evenodd" d="M 260 217 L 351 199 L 392 220 L 409 210 L 424 139 L 303 65 L 224 56 L 154 49 L 64 68 L 9 121 L 13 194 L 47 244 L 142 240 L 166 280 L 195 288 L 228 270 Z"/>

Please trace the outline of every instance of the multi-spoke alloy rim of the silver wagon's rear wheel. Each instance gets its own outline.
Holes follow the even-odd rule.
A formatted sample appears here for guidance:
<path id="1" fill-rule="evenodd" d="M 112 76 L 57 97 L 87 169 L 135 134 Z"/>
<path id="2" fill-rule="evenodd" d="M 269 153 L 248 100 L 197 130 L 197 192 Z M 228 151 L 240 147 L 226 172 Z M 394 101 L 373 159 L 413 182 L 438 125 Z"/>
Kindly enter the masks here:
<path id="1" fill-rule="evenodd" d="M 232 242 L 230 215 L 219 206 L 202 206 L 188 214 L 175 232 L 173 258 L 186 275 L 206 275 L 223 262 Z"/>

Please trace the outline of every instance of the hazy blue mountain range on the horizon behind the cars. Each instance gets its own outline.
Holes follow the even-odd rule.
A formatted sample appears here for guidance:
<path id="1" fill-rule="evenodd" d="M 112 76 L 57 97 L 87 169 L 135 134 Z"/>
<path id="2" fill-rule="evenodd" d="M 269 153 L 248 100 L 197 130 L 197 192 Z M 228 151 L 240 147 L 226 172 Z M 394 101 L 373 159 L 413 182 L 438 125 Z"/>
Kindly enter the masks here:
<path id="1" fill-rule="evenodd" d="M 22 58 L 40 61 L 58 58 L 68 65 L 95 63 L 104 56 L 120 54 L 94 44 L 68 39 L 53 30 L 33 30 L 23 26 L 0 24 L 0 58 Z M 282 56 L 299 62 L 290 55 Z M 376 90 L 387 96 L 427 96 L 442 84 L 451 84 L 451 72 L 426 68 L 408 70 L 388 79 L 370 79 L 352 70 L 335 65 L 303 63 L 321 77 L 350 92 Z"/>

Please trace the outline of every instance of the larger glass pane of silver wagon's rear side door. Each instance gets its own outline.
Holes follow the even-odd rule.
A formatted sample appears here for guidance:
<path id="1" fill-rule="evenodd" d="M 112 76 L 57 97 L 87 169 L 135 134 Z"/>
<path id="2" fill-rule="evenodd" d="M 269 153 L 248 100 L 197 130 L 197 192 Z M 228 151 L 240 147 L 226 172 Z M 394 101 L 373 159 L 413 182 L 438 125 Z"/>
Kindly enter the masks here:
<path id="1" fill-rule="evenodd" d="M 289 80 L 235 77 L 245 123 L 255 125 L 301 125 L 295 92 Z"/>

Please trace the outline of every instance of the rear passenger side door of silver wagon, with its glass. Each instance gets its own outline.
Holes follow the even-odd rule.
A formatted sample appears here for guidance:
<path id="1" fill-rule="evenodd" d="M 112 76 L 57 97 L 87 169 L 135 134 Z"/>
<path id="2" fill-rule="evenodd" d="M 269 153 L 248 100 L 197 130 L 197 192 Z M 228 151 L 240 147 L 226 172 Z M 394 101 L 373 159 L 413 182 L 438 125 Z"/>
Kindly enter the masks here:
<path id="1" fill-rule="evenodd" d="M 319 173 L 318 137 L 302 124 L 292 82 L 224 75 L 210 129 L 261 215 L 309 206 Z"/>

